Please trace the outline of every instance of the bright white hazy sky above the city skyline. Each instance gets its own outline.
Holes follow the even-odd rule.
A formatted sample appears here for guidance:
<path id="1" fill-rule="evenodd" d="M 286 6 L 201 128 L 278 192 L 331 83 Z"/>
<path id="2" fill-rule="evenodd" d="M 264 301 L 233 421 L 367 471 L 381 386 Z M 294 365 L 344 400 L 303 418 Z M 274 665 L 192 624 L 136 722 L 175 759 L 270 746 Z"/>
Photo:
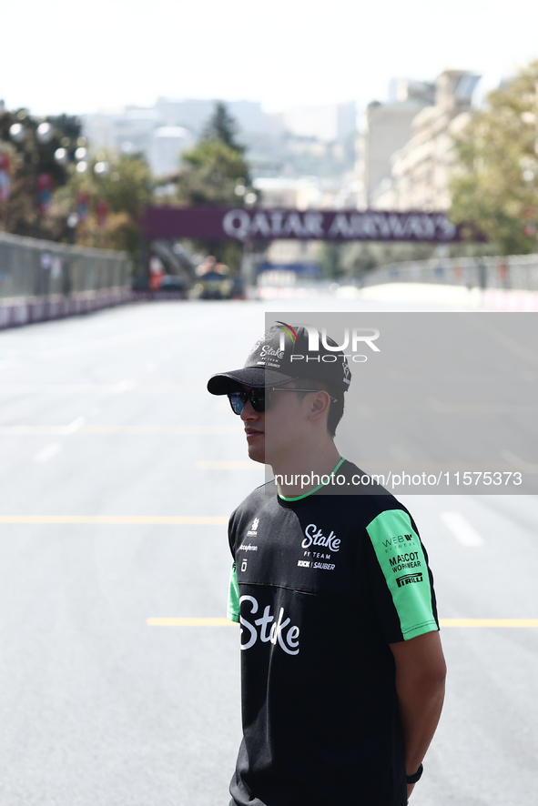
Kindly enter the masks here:
<path id="1" fill-rule="evenodd" d="M 259 100 L 266 111 L 383 100 L 392 76 L 446 66 L 481 92 L 538 58 L 538 0 L 11 0 L 0 97 L 36 115 L 157 96 Z"/>

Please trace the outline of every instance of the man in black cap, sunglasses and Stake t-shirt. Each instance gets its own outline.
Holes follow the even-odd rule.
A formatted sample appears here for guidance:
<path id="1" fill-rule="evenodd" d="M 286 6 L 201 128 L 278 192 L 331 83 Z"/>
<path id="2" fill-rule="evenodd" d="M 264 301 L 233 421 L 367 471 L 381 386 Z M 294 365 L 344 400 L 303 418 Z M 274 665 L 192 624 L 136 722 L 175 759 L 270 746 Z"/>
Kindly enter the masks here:
<path id="1" fill-rule="evenodd" d="M 326 345 L 272 327 L 244 368 L 208 381 L 276 479 L 228 528 L 243 650 L 230 806 L 403 806 L 441 714 L 426 551 L 407 509 L 334 445 L 350 369 Z"/>

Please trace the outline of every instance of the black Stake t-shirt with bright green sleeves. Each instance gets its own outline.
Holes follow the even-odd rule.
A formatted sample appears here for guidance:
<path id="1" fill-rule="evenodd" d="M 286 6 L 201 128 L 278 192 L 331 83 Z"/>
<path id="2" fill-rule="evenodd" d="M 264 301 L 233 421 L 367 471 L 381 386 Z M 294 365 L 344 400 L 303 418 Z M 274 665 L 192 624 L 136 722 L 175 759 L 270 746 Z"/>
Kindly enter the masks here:
<path id="1" fill-rule="evenodd" d="M 426 551 L 391 494 L 327 492 L 261 487 L 229 521 L 243 720 L 232 804 L 406 802 L 389 644 L 439 629 Z"/>

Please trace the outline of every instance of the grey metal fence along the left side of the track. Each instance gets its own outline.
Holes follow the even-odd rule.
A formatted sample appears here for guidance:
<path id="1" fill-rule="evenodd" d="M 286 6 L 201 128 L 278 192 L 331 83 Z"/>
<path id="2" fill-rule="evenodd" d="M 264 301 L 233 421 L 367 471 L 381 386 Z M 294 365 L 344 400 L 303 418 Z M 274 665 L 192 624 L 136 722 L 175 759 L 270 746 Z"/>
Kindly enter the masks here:
<path id="1" fill-rule="evenodd" d="M 124 252 L 0 233 L 0 329 L 129 301 Z"/>

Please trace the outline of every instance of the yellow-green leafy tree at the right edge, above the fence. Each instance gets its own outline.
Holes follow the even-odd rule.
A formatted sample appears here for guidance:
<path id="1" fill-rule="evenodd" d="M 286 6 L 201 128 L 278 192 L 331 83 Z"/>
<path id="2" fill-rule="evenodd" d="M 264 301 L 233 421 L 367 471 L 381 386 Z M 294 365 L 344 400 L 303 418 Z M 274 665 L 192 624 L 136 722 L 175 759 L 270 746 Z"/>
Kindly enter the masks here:
<path id="1" fill-rule="evenodd" d="M 538 246 L 538 61 L 488 96 L 456 141 L 454 223 L 470 222 L 504 255 Z"/>

